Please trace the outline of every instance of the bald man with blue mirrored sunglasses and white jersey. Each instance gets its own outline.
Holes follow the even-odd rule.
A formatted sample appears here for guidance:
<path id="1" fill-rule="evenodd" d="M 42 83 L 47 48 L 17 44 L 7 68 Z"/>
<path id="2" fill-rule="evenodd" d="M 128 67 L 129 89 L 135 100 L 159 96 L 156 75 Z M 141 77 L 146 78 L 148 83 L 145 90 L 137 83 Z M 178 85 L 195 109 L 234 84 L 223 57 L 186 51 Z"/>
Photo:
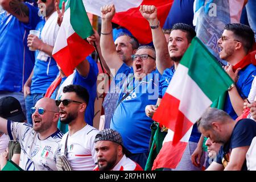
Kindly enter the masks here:
<path id="1" fill-rule="evenodd" d="M 55 100 L 42 98 L 31 107 L 31 114 L 33 126 L 0 118 L 0 131 L 20 143 L 19 166 L 23 170 L 56 171 L 56 158 L 60 154 L 63 136 L 57 129 L 59 108 Z"/>

